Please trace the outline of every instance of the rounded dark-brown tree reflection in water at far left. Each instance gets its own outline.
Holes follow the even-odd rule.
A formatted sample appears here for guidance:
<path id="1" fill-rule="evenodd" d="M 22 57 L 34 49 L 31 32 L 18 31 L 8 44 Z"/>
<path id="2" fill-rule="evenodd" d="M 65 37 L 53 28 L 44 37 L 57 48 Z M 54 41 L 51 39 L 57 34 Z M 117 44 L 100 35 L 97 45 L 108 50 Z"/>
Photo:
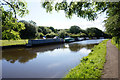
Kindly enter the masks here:
<path id="1" fill-rule="evenodd" d="M 6 61 L 9 61 L 10 63 L 15 63 L 16 61 L 20 63 L 28 62 L 30 59 L 36 58 L 37 53 L 31 52 L 29 50 L 6 50 L 3 51 L 2 58 Z"/>

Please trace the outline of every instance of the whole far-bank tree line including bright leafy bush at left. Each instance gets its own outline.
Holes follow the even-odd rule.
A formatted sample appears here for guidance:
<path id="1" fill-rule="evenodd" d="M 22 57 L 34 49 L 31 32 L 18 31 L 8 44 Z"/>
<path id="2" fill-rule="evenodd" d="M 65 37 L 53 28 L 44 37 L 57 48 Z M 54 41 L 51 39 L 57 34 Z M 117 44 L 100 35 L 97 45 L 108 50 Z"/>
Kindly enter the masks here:
<path id="1" fill-rule="evenodd" d="M 79 26 L 71 26 L 69 29 L 54 29 L 54 27 L 36 26 L 36 22 L 30 20 L 18 20 L 13 17 L 13 13 L 5 11 L 1 8 L 2 12 L 2 39 L 3 40 L 17 40 L 17 39 L 41 39 L 43 36 L 46 38 L 54 38 L 59 36 L 65 37 L 107 37 L 108 34 L 92 27 L 86 30 L 81 29 Z"/>

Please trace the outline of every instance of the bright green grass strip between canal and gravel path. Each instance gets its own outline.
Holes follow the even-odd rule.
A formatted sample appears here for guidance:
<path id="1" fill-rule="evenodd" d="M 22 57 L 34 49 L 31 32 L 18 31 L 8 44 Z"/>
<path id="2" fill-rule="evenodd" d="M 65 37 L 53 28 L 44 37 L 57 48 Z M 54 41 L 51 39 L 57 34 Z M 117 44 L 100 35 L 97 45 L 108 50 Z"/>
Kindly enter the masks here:
<path id="1" fill-rule="evenodd" d="M 107 41 L 94 46 L 92 52 L 83 57 L 81 63 L 71 69 L 65 78 L 100 78 L 105 63 Z"/>

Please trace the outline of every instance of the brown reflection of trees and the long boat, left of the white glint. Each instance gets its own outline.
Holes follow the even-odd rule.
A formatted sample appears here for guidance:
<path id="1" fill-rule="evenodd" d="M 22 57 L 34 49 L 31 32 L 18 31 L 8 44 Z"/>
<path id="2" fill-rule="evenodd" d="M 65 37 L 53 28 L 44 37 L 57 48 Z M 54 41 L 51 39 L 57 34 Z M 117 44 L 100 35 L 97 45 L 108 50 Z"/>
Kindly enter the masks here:
<path id="1" fill-rule="evenodd" d="M 34 48 L 11 48 L 2 50 L 2 59 L 15 63 L 16 61 L 20 63 L 26 63 L 37 57 L 37 52 L 43 53 L 46 51 L 53 51 L 54 49 L 64 48 L 63 44 L 59 45 L 48 45 L 42 47 Z"/>

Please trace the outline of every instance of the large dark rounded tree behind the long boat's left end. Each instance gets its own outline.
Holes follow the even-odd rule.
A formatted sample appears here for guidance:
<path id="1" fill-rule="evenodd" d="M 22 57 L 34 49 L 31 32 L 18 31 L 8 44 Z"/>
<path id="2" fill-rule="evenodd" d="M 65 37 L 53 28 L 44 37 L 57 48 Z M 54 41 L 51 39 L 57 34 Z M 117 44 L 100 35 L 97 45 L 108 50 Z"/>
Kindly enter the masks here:
<path id="1" fill-rule="evenodd" d="M 20 21 L 25 24 L 25 29 L 20 31 L 20 37 L 22 39 L 34 39 L 36 37 L 36 27 L 27 21 Z"/>

